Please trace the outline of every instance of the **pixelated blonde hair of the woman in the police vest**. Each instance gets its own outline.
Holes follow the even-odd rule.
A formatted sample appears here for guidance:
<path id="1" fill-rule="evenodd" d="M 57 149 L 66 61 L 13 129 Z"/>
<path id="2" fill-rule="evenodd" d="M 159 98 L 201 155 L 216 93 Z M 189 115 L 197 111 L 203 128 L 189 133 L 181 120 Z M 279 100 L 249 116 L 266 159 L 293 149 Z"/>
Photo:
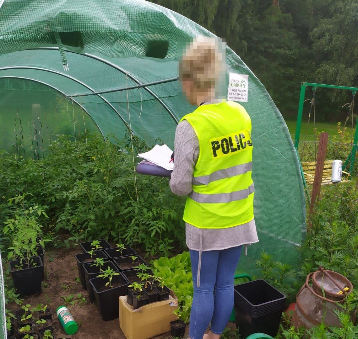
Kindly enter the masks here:
<path id="1" fill-rule="evenodd" d="M 215 38 L 195 38 L 184 51 L 179 63 L 180 81 L 193 82 L 197 93 L 215 89 L 223 71 L 223 56 Z"/>

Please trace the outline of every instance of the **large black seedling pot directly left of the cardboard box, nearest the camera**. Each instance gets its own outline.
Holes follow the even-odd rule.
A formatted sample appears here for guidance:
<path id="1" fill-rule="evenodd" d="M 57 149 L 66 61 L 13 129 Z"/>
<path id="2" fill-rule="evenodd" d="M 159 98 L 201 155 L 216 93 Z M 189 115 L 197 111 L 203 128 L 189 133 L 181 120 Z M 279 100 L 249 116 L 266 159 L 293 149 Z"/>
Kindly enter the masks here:
<path id="1" fill-rule="evenodd" d="M 121 273 L 113 275 L 111 282 L 113 288 L 109 288 L 108 285 L 105 286 L 107 282 L 108 279 L 102 279 L 102 277 L 89 280 L 93 293 L 95 293 L 97 307 L 104 321 L 119 317 L 118 297 L 127 295 L 127 286 L 129 285 L 128 280 Z"/>

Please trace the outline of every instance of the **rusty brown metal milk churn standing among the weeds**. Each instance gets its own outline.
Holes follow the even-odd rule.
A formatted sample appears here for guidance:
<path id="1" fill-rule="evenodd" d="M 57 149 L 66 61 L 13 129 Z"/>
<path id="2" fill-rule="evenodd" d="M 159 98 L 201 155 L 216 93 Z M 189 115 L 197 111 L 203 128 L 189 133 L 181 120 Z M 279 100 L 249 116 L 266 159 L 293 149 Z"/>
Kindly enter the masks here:
<path id="1" fill-rule="evenodd" d="M 306 329 L 322 322 L 329 326 L 340 326 L 333 310 L 339 309 L 336 303 L 343 303 L 345 296 L 352 291 L 353 285 L 345 276 L 319 267 L 318 271 L 307 276 L 306 283 L 296 295 L 291 325 Z M 355 315 L 352 315 L 353 317 L 355 318 Z"/>

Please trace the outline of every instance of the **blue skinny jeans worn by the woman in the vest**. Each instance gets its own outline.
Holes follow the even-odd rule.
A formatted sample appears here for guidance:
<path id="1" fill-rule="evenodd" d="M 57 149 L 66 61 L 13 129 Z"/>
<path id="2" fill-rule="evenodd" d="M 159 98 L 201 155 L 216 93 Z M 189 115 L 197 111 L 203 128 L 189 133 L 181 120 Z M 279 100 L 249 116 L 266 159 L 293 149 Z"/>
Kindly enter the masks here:
<path id="1" fill-rule="evenodd" d="M 242 246 L 202 252 L 200 287 L 197 287 L 199 252 L 190 250 L 193 273 L 193 304 L 189 337 L 202 339 L 211 322 L 211 331 L 221 334 L 234 306 L 234 274 Z"/>

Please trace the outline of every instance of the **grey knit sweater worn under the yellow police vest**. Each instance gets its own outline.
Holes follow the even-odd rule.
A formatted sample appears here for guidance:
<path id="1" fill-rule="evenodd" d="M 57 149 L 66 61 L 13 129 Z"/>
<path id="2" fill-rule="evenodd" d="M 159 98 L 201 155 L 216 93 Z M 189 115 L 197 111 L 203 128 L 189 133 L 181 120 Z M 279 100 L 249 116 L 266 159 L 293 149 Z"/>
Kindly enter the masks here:
<path id="1" fill-rule="evenodd" d="M 169 185 L 175 195 L 185 196 L 193 190 L 194 166 L 199 156 L 199 140 L 186 120 L 176 127 L 174 149 L 174 170 Z M 254 219 L 227 229 L 199 229 L 185 223 L 185 235 L 189 249 L 199 252 L 224 250 L 258 242 Z"/>

